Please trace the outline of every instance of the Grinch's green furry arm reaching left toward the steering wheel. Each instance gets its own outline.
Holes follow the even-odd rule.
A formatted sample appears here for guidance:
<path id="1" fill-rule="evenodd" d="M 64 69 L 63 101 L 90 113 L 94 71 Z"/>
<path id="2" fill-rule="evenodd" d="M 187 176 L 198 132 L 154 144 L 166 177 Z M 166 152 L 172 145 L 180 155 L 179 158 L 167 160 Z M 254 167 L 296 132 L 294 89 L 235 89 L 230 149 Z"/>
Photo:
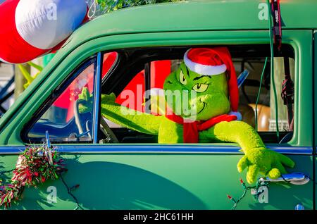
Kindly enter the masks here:
<path id="1" fill-rule="evenodd" d="M 82 99 L 80 104 L 80 113 L 89 111 L 92 108 L 92 94 L 89 94 L 88 89 L 82 89 L 79 99 Z M 102 94 L 101 95 L 101 115 L 113 123 L 128 127 L 129 129 L 136 130 L 150 135 L 159 134 L 159 125 L 161 123 L 161 116 L 154 116 L 149 113 L 141 113 L 132 110 L 120 104 L 116 104 L 115 94 Z"/>

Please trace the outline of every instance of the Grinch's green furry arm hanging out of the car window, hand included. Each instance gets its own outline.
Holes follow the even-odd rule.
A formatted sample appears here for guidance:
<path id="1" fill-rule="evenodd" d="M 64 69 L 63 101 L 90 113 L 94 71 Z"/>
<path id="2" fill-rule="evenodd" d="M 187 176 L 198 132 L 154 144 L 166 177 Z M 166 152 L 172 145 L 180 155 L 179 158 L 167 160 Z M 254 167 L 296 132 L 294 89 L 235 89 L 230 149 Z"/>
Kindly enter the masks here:
<path id="1" fill-rule="evenodd" d="M 259 172 L 275 179 L 287 173 L 284 166 L 294 167 L 294 162 L 287 156 L 266 149 L 254 128 L 242 121 L 220 122 L 204 131 L 202 135 L 208 135 L 213 140 L 235 142 L 240 145 L 245 155 L 237 164 L 237 169 L 242 172 L 248 168 L 249 183 L 256 180 Z"/>

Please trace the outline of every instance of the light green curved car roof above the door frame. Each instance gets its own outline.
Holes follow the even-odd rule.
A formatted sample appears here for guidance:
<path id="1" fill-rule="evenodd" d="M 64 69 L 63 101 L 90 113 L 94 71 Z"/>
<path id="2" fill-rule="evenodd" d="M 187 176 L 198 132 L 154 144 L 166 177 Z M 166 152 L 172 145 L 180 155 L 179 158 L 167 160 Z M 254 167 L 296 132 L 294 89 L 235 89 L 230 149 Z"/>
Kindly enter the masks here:
<path id="1" fill-rule="evenodd" d="M 68 44 L 108 35 L 195 30 L 266 30 L 265 0 L 194 0 L 124 8 L 82 25 Z M 317 27 L 316 0 L 280 0 L 282 29 Z"/>

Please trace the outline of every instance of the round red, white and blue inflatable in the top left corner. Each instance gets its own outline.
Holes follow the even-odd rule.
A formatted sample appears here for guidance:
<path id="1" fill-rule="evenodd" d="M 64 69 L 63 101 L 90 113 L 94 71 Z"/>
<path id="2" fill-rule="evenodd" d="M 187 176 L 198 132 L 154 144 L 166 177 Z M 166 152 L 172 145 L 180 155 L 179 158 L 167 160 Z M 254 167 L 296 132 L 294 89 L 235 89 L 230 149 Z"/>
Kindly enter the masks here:
<path id="1" fill-rule="evenodd" d="M 25 63 L 60 46 L 84 23 L 85 0 L 7 0 L 0 5 L 0 61 Z"/>

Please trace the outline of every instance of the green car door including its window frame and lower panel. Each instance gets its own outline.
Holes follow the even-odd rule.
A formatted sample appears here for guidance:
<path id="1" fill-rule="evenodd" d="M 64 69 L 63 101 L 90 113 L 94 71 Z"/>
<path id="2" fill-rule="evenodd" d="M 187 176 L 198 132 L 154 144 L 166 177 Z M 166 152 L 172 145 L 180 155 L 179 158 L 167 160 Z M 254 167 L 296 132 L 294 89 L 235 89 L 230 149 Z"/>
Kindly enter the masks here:
<path id="1" fill-rule="evenodd" d="M 296 166 L 289 169 L 290 172 L 301 172 L 312 177 L 313 90 L 309 85 L 312 82 L 311 31 L 285 30 L 283 35 L 285 44 L 289 44 L 294 50 L 294 132 L 292 139 L 282 143 L 274 139 L 275 134 L 271 135 L 272 143 L 266 145 L 269 149 L 290 156 L 294 160 Z M 76 125 L 75 130 L 65 127 L 66 134 L 61 139 L 56 139 L 58 133 L 51 133 L 51 142 L 66 159 L 68 172 L 63 175 L 64 182 L 49 181 L 38 189 L 25 189 L 23 199 L 15 204 L 13 209 L 74 209 L 77 207 L 75 201 L 78 201 L 82 209 L 232 209 L 234 204 L 227 195 L 230 194 L 235 200 L 239 199 L 244 192 L 240 178 L 245 181 L 246 176 L 245 170 L 241 174 L 237 172 L 237 162 L 242 158 L 242 152 L 236 144 L 100 142 L 101 91 L 123 89 L 128 82 L 125 80 L 123 84 L 118 81 L 120 75 L 116 75 L 116 69 L 120 69 L 120 58 L 114 60 L 113 66 L 106 75 L 104 74 L 101 70 L 104 54 L 120 49 L 147 50 L 147 47 L 161 47 L 162 43 L 163 46 L 171 48 L 201 44 L 268 44 L 268 32 L 256 30 L 131 34 L 100 37 L 82 44 L 60 61 L 42 85 L 35 89 L 32 97 L 23 104 L 23 110 L 19 111 L 6 124 L 6 130 L 1 132 L 1 141 L 6 142 L 7 146 L 0 149 L 0 165 L 1 169 L 10 170 L 14 167 L 18 150 L 24 149 L 27 141 L 39 144 L 45 140 L 44 131 L 49 124 L 46 123 L 46 127 L 41 126 L 42 129 L 37 129 L 37 132 L 34 132 L 37 135 L 33 135 L 33 132 L 29 135 L 35 123 L 51 105 L 56 104 L 56 99 L 80 77 L 87 66 L 93 68 L 93 81 L 89 90 L 93 93 L 94 106 L 88 118 L 82 118 L 86 119 L 85 123 L 82 123 L 82 127 L 86 129 L 79 133 L 79 137 L 79 127 L 76 130 Z M 65 52 L 61 51 L 59 54 L 60 58 L 63 58 Z M 130 72 L 132 79 L 139 70 Z M 110 75 L 113 76 L 113 80 L 118 81 L 109 82 L 112 86 L 106 85 Z M 73 132 L 77 134 L 70 135 Z M 9 175 L 6 178 L 9 178 Z M 65 182 L 68 187 L 80 186 L 74 189 L 71 195 L 68 194 Z M 259 197 L 254 197 L 251 191 L 248 191 L 236 209 L 295 209 L 299 204 L 305 209 L 313 209 L 312 182 L 305 185 L 270 182 L 268 188 L 258 190 Z M 51 197 L 56 197 L 56 200 L 49 200 Z"/>

